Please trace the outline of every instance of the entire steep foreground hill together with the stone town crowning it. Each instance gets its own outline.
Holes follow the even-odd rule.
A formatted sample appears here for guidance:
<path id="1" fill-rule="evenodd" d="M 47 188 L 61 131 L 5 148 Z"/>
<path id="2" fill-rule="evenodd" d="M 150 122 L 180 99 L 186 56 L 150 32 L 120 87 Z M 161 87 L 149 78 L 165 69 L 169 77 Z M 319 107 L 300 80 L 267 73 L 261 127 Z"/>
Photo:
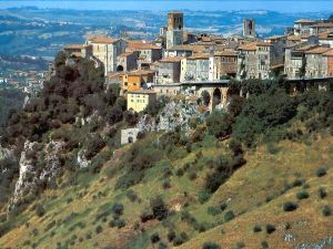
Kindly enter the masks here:
<path id="1" fill-rule="evenodd" d="M 185 23 L 65 45 L 22 108 L 0 92 L 0 248 L 332 247 L 332 18 Z"/>

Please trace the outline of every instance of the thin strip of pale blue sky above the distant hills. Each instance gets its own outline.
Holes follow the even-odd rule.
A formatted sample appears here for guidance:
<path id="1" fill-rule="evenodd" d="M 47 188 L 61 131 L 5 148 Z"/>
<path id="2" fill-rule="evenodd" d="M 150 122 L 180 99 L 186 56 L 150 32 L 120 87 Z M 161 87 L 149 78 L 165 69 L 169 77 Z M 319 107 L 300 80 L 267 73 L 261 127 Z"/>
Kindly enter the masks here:
<path id="1" fill-rule="evenodd" d="M 79 10 L 275 10 L 280 12 L 333 12 L 333 0 L 0 0 L 0 9 L 33 6 Z"/>

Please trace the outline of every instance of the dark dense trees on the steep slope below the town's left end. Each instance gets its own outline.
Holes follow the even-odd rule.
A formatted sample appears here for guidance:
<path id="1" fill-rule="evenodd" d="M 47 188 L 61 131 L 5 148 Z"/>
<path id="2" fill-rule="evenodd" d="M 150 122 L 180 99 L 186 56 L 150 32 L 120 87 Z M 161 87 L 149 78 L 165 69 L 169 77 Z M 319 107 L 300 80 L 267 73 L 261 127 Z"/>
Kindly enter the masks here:
<path id="1" fill-rule="evenodd" d="M 2 143 L 21 147 L 26 139 L 40 142 L 48 131 L 94 112 L 110 124 L 122 121 L 125 100 L 119 97 L 115 86 L 104 91 L 103 68 L 89 60 L 67 60 L 60 52 L 54 60 L 56 75 L 44 83 L 40 95 L 23 112 L 11 113 Z"/>

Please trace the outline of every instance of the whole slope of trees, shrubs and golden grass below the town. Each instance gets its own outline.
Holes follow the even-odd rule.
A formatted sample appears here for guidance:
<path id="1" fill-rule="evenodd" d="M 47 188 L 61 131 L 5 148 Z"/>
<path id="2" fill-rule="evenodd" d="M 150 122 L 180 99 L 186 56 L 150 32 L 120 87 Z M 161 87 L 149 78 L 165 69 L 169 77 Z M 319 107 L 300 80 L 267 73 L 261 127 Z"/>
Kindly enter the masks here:
<path id="1" fill-rule="evenodd" d="M 119 89 L 103 83 L 103 69 L 85 60 L 69 64 L 60 53 L 40 96 L 10 115 L 2 145 L 20 157 L 24 143 L 33 142 L 24 158 L 38 180 L 18 207 L 2 209 L 0 247 L 283 248 L 275 230 L 290 221 L 303 235 L 311 226 L 299 226 L 302 219 L 320 226 L 312 241 L 326 235 L 333 189 L 330 91 L 291 96 L 279 82 L 243 82 L 250 96 L 232 100 L 229 111 L 191 120 L 190 131 L 142 133 L 121 147 L 120 128 L 142 114 L 127 112 Z M 158 116 L 165 101 L 145 114 Z M 46 148 L 53 142 L 63 145 L 60 174 L 48 179 L 38 174 L 48 168 Z M 19 167 L 11 160 L 0 166 L 8 197 Z M 302 210 L 325 218 L 314 221 Z M 258 236 L 264 230 L 265 237 Z"/>

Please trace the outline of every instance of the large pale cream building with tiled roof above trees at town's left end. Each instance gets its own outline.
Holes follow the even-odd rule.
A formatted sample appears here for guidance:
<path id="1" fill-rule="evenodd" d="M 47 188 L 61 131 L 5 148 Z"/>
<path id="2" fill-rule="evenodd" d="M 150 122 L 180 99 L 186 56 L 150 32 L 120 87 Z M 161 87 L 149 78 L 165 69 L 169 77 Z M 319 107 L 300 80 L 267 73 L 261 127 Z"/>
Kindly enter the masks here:
<path id="1" fill-rule="evenodd" d="M 105 75 L 117 72 L 117 56 L 125 52 L 128 45 L 123 39 L 90 38 L 87 44 L 92 46 L 92 55 L 103 63 Z"/>

